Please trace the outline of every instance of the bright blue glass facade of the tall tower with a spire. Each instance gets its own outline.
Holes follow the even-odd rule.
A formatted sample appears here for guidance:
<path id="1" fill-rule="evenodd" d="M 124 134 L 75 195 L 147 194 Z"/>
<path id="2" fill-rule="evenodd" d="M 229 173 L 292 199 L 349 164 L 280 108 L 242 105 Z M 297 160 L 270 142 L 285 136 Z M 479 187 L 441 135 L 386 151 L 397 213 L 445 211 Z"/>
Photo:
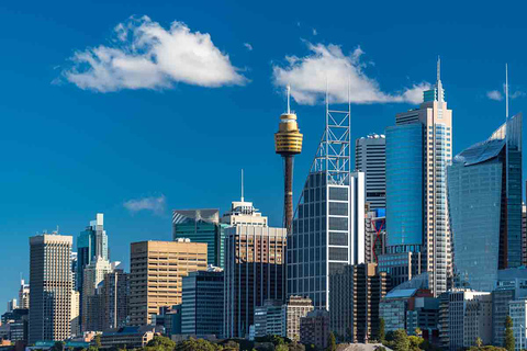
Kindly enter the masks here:
<path id="1" fill-rule="evenodd" d="M 423 245 L 423 124 L 386 128 L 388 246 Z M 404 249 L 403 249 L 404 251 Z"/>

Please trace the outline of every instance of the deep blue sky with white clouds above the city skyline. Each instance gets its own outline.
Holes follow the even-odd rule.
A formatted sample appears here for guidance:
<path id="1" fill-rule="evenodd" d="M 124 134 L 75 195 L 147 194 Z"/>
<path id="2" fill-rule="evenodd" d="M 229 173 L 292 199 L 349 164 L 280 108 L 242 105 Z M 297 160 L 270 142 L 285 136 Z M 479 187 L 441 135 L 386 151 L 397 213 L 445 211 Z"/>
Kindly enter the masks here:
<path id="1" fill-rule="evenodd" d="M 352 80 L 356 138 L 415 106 L 440 55 L 455 152 L 487 137 L 504 120 L 505 63 L 511 110 L 526 110 L 525 10 L 506 1 L 3 3 L 0 302 L 29 276 L 31 235 L 59 225 L 77 237 L 103 212 L 111 257 L 127 267 L 130 242 L 170 239 L 171 208 L 227 210 L 242 168 L 246 199 L 279 225 L 273 133 L 285 82 L 304 134 L 295 194 L 324 126 L 324 77 L 335 102 L 338 78 Z"/>

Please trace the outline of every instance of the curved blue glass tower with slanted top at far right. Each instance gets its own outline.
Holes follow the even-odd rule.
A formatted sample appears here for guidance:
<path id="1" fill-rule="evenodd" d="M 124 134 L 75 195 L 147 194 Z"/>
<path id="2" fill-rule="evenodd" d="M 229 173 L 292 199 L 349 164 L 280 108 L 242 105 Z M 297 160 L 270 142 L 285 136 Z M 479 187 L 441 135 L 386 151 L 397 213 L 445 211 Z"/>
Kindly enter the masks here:
<path id="1" fill-rule="evenodd" d="M 522 115 L 458 154 L 447 179 L 457 279 L 491 292 L 522 265 Z"/>

